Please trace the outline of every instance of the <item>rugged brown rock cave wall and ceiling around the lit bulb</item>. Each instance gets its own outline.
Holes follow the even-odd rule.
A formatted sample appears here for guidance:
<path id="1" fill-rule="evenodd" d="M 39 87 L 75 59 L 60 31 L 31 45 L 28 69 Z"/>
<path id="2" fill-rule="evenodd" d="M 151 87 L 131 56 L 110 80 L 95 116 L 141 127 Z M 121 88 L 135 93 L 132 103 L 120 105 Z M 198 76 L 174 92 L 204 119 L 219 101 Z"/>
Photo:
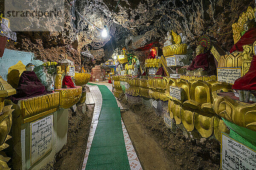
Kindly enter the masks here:
<path id="1" fill-rule="evenodd" d="M 47 61 L 64 59 L 67 54 L 76 66 L 84 61 L 81 51 L 89 49 L 95 59 L 85 62 L 85 67 L 91 69 L 111 58 L 117 47 L 126 46 L 129 52 L 144 59 L 148 52 L 138 49 L 154 42 L 157 43 L 153 46 L 163 46 L 167 31 L 172 29 L 182 34 L 183 42 L 193 50 L 198 37 L 208 34 L 229 51 L 234 44 L 232 24 L 248 6 L 255 7 L 254 0 L 120 0 L 113 14 L 117 2 L 75 1 L 79 12 L 95 26 L 102 29 L 107 25 L 110 35 L 106 38 L 77 14 L 71 20 L 70 6 L 65 4 L 64 31 L 17 32 L 17 44 L 9 42 L 6 48 L 34 52 L 36 59 Z"/>

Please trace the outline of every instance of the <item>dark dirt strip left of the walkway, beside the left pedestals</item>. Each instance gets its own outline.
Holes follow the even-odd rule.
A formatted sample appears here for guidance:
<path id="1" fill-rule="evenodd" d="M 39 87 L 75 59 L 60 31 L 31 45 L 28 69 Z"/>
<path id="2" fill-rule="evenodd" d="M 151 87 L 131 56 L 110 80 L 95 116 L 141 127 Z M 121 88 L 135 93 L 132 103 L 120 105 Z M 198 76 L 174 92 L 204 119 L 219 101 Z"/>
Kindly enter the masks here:
<path id="1" fill-rule="evenodd" d="M 53 170 L 80 170 L 82 167 L 94 106 L 87 105 L 85 114 L 82 109 L 81 105 L 77 106 L 76 116 L 69 110 L 67 144 L 56 155 Z"/>

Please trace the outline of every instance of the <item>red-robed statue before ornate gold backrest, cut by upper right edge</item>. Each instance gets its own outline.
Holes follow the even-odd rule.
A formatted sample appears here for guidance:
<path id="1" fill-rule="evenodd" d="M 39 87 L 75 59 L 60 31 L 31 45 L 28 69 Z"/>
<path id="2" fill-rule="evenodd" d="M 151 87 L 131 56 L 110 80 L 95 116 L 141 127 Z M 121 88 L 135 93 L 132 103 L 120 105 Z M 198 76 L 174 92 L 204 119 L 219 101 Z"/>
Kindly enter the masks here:
<path id="1" fill-rule="evenodd" d="M 236 42 L 230 50 L 230 54 L 234 51 L 244 51 L 243 45 L 253 44 L 256 41 L 256 24 L 254 21 L 247 20 L 244 23 L 244 35 Z"/>

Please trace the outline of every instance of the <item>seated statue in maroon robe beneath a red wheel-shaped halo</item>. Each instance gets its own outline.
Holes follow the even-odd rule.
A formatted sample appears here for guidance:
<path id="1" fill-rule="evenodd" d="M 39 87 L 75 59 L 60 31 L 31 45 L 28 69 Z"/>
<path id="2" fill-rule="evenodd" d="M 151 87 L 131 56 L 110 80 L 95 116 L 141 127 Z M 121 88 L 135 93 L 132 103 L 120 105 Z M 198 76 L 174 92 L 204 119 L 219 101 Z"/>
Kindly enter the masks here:
<path id="1" fill-rule="evenodd" d="M 205 52 L 202 45 L 198 45 L 196 56 L 192 63 L 187 68 L 187 76 L 205 76 L 214 75 L 216 72 L 216 65 L 212 54 Z"/>

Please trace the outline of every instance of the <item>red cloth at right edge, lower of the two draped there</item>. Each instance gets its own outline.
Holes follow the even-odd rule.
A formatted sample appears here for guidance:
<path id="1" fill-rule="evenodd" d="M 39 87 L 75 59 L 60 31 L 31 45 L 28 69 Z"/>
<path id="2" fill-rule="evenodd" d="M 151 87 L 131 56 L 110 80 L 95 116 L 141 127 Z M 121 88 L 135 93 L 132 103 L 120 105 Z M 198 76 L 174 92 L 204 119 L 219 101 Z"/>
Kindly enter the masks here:
<path id="1" fill-rule="evenodd" d="M 239 79 L 236 79 L 233 89 L 256 91 L 256 55 L 253 56 L 249 71 Z"/>

